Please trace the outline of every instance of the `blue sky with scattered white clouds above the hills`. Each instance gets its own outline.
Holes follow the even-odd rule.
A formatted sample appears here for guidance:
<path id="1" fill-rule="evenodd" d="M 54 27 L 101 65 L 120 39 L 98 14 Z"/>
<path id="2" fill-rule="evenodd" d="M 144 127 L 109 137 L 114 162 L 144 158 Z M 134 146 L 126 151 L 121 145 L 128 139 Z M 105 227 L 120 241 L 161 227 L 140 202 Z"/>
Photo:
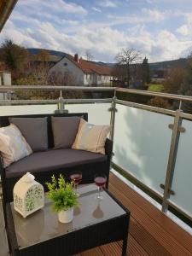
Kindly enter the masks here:
<path id="1" fill-rule="evenodd" d="M 114 61 L 134 48 L 149 62 L 192 51 L 192 0 L 19 0 L 0 43 L 55 49 Z"/>

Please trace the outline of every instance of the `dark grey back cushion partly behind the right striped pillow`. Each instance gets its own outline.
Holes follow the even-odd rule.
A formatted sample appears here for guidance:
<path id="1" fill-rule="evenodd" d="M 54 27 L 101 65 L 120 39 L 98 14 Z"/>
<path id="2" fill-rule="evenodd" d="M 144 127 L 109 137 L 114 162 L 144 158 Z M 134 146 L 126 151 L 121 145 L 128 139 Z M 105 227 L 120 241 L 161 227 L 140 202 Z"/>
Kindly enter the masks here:
<path id="1" fill-rule="evenodd" d="M 79 129 L 80 117 L 51 117 L 55 148 L 72 148 Z"/>

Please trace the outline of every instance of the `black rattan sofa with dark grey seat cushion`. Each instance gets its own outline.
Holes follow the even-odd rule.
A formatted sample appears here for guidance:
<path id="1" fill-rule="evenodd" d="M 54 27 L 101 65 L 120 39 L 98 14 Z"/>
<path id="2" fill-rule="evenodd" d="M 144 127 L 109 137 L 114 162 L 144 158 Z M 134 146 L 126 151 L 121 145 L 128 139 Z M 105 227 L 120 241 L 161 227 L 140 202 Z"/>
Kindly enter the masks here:
<path id="1" fill-rule="evenodd" d="M 54 138 L 51 127 L 51 116 L 71 117 L 79 116 L 88 120 L 87 113 L 55 113 L 38 115 L 18 115 L 22 118 L 47 117 L 48 144 L 46 151 L 32 153 L 22 160 L 3 168 L 3 160 L 0 157 L 0 175 L 3 186 L 3 202 L 13 201 L 13 188 L 18 179 L 26 172 L 31 172 L 39 183 L 45 184 L 50 177 L 62 173 L 67 180 L 73 171 L 81 171 L 83 174 L 82 183 L 92 183 L 96 172 L 103 172 L 109 176 L 110 159 L 113 143 L 107 139 L 105 144 L 105 155 L 75 150 L 72 148 L 54 149 Z M 15 117 L 15 116 L 14 116 Z M 0 117 L 0 127 L 9 125 L 10 116 Z M 39 164 L 41 163 L 41 165 Z M 39 167 L 38 167 L 39 166 Z M 108 187 L 108 181 L 107 181 Z M 46 186 L 44 185 L 46 190 Z"/>

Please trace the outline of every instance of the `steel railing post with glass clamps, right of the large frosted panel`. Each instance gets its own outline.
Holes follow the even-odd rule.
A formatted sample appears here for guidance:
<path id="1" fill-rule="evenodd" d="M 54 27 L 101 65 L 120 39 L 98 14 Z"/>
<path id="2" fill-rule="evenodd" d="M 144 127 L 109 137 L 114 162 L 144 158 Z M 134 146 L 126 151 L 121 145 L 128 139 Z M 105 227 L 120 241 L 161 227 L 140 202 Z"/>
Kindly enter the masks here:
<path id="1" fill-rule="evenodd" d="M 163 196 L 163 202 L 162 202 L 162 212 L 166 212 L 168 209 L 168 202 L 170 195 L 174 195 L 174 191 L 172 191 L 172 179 L 175 169 L 175 162 L 177 158 L 177 148 L 178 148 L 178 142 L 180 137 L 180 132 L 185 131 L 183 129 L 182 125 L 182 118 L 180 113 L 183 111 L 180 109 L 177 109 L 176 116 L 174 119 L 174 124 L 169 125 L 169 128 L 172 129 L 172 141 L 169 151 L 169 159 L 168 164 L 166 168 L 166 183 L 165 185 L 160 185 L 161 188 L 164 189 L 164 196 Z"/>

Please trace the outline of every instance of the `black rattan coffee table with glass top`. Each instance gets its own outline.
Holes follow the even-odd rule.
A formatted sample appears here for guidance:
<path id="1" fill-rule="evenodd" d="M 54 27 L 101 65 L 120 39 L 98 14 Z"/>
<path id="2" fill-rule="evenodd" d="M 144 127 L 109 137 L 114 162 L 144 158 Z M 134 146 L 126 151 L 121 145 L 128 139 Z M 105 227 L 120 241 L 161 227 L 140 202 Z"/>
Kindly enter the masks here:
<path id="1" fill-rule="evenodd" d="M 63 256 L 80 253 L 92 247 L 123 240 L 126 253 L 130 212 L 107 190 L 102 200 L 96 199 L 96 185 L 79 188 L 79 207 L 73 221 L 61 224 L 45 201 L 43 209 L 22 218 L 13 203 L 6 205 L 9 249 L 14 256 Z"/>

